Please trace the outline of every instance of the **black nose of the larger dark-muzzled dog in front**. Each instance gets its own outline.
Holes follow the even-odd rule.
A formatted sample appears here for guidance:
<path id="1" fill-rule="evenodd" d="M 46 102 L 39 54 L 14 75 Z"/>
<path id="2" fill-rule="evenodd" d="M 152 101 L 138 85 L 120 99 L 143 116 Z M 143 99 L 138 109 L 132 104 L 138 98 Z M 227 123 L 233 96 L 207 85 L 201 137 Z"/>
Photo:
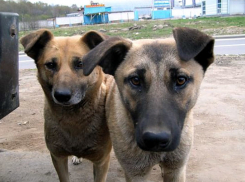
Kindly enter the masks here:
<path id="1" fill-rule="evenodd" d="M 168 146 L 171 135 L 167 132 L 151 133 L 145 132 L 142 136 L 143 142 L 148 149 L 164 149 Z"/>

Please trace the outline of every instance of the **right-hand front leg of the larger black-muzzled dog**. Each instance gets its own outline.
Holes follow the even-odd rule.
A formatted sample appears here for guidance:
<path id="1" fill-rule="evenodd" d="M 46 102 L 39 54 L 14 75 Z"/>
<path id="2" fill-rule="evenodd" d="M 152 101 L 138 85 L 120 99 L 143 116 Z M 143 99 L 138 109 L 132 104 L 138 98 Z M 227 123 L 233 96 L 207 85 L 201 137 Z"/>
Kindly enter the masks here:
<path id="1" fill-rule="evenodd" d="M 164 168 L 163 179 L 164 182 L 185 182 L 186 165 L 178 169 Z"/>

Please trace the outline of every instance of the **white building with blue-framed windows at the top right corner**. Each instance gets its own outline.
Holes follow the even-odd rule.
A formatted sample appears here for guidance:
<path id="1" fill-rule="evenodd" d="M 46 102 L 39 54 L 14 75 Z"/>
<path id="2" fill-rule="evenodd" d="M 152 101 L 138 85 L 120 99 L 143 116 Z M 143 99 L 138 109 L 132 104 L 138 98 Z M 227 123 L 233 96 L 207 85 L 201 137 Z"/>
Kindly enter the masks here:
<path id="1" fill-rule="evenodd" d="M 203 0 L 202 15 L 241 15 L 245 14 L 245 0 Z"/>

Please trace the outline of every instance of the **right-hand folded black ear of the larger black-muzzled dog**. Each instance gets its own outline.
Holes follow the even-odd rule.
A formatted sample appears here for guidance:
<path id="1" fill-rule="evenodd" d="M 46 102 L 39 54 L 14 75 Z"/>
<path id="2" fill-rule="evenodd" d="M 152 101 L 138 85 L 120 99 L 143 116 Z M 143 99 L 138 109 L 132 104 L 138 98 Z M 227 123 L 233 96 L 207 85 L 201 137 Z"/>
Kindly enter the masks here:
<path id="1" fill-rule="evenodd" d="M 214 61 L 214 39 L 196 29 L 178 27 L 173 30 L 180 59 L 194 58 L 206 71 Z"/>

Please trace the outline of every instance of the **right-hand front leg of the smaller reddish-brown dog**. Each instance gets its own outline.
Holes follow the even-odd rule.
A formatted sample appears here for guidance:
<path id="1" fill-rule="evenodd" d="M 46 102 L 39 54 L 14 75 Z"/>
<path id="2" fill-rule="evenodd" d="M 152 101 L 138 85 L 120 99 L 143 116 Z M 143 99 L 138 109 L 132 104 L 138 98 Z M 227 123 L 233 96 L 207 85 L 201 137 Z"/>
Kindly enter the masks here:
<path id="1" fill-rule="evenodd" d="M 110 164 L 110 154 L 100 162 L 93 163 L 94 182 L 105 182 Z"/>

